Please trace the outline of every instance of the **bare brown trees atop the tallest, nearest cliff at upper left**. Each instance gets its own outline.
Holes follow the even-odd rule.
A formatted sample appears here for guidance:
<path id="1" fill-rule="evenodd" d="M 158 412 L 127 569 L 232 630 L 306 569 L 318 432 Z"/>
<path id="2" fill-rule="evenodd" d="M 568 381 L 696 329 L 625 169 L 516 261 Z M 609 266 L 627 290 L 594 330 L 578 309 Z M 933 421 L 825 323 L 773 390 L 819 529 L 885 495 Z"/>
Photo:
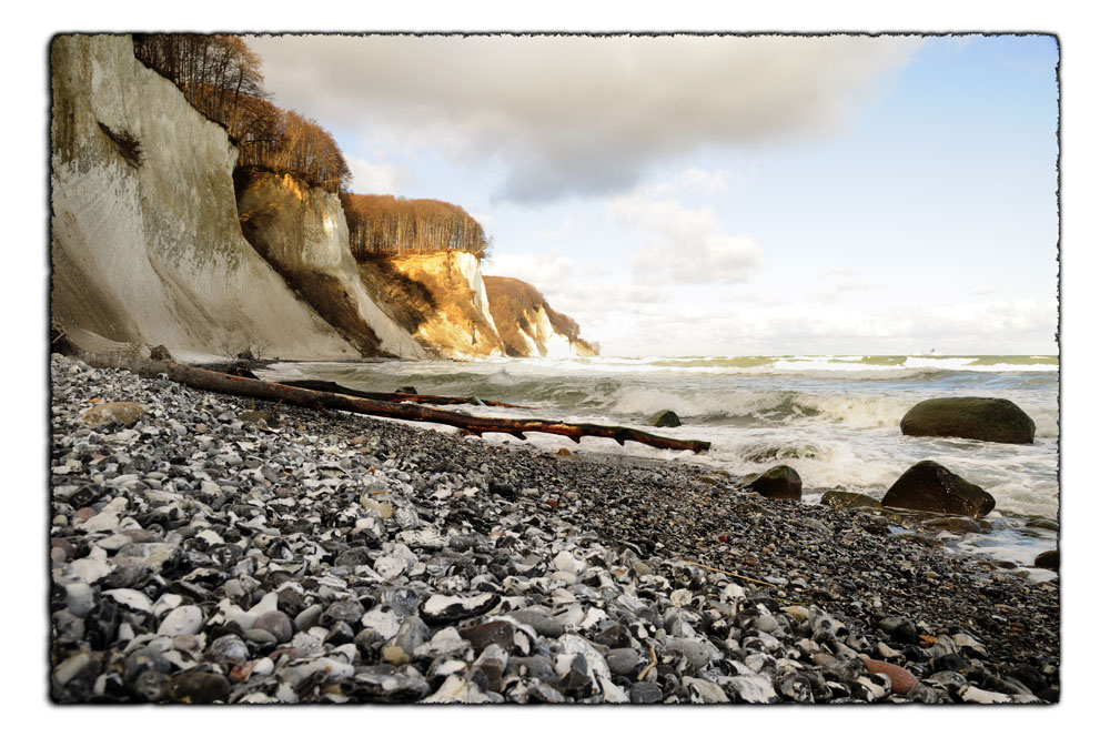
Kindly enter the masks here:
<path id="1" fill-rule="evenodd" d="M 239 165 L 290 173 L 339 192 L 351 171 L 331 133 L 269 101 L 262 60 L 238 36 L 145 33 L 132 37 L 135 58 L 184 93 L 198 111 L 228 130 Z"/>

